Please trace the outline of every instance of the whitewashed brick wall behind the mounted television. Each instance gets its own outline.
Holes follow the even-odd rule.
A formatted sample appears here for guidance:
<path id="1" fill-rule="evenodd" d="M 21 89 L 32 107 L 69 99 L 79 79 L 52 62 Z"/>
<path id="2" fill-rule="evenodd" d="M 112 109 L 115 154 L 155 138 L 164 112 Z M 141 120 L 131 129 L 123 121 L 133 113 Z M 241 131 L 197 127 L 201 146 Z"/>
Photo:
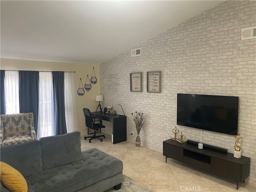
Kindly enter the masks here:
<path id="1" fill-rule="evenodd" d="M 239 96 L 242 156 L 251 158 L 249 181 L 256 183 L 256 39 L 241 40 L 241 29 L 256 26 L 255 1 L 227 1 L 159 34 L 100 65 L 103 106 L 127 116 L 127 137 L 135 142 L 132 112 L 144 112 L 143 146 L 162 152 L 173 136 L 177 93 Z M 160 94 L 146 92 L 146 72 L 162 71 Z M 130 72 L 142 72 L 142 92 L 130 92 Z M 111 134 L 111 124 L 104 131 Z M 200 141 L 201 130 L 177 126 L 187 139 Z M 202 142 L 234 151 L 234 136 L 203 130 Z M 134 143 L 135 146 L 135 143 Z"/>

